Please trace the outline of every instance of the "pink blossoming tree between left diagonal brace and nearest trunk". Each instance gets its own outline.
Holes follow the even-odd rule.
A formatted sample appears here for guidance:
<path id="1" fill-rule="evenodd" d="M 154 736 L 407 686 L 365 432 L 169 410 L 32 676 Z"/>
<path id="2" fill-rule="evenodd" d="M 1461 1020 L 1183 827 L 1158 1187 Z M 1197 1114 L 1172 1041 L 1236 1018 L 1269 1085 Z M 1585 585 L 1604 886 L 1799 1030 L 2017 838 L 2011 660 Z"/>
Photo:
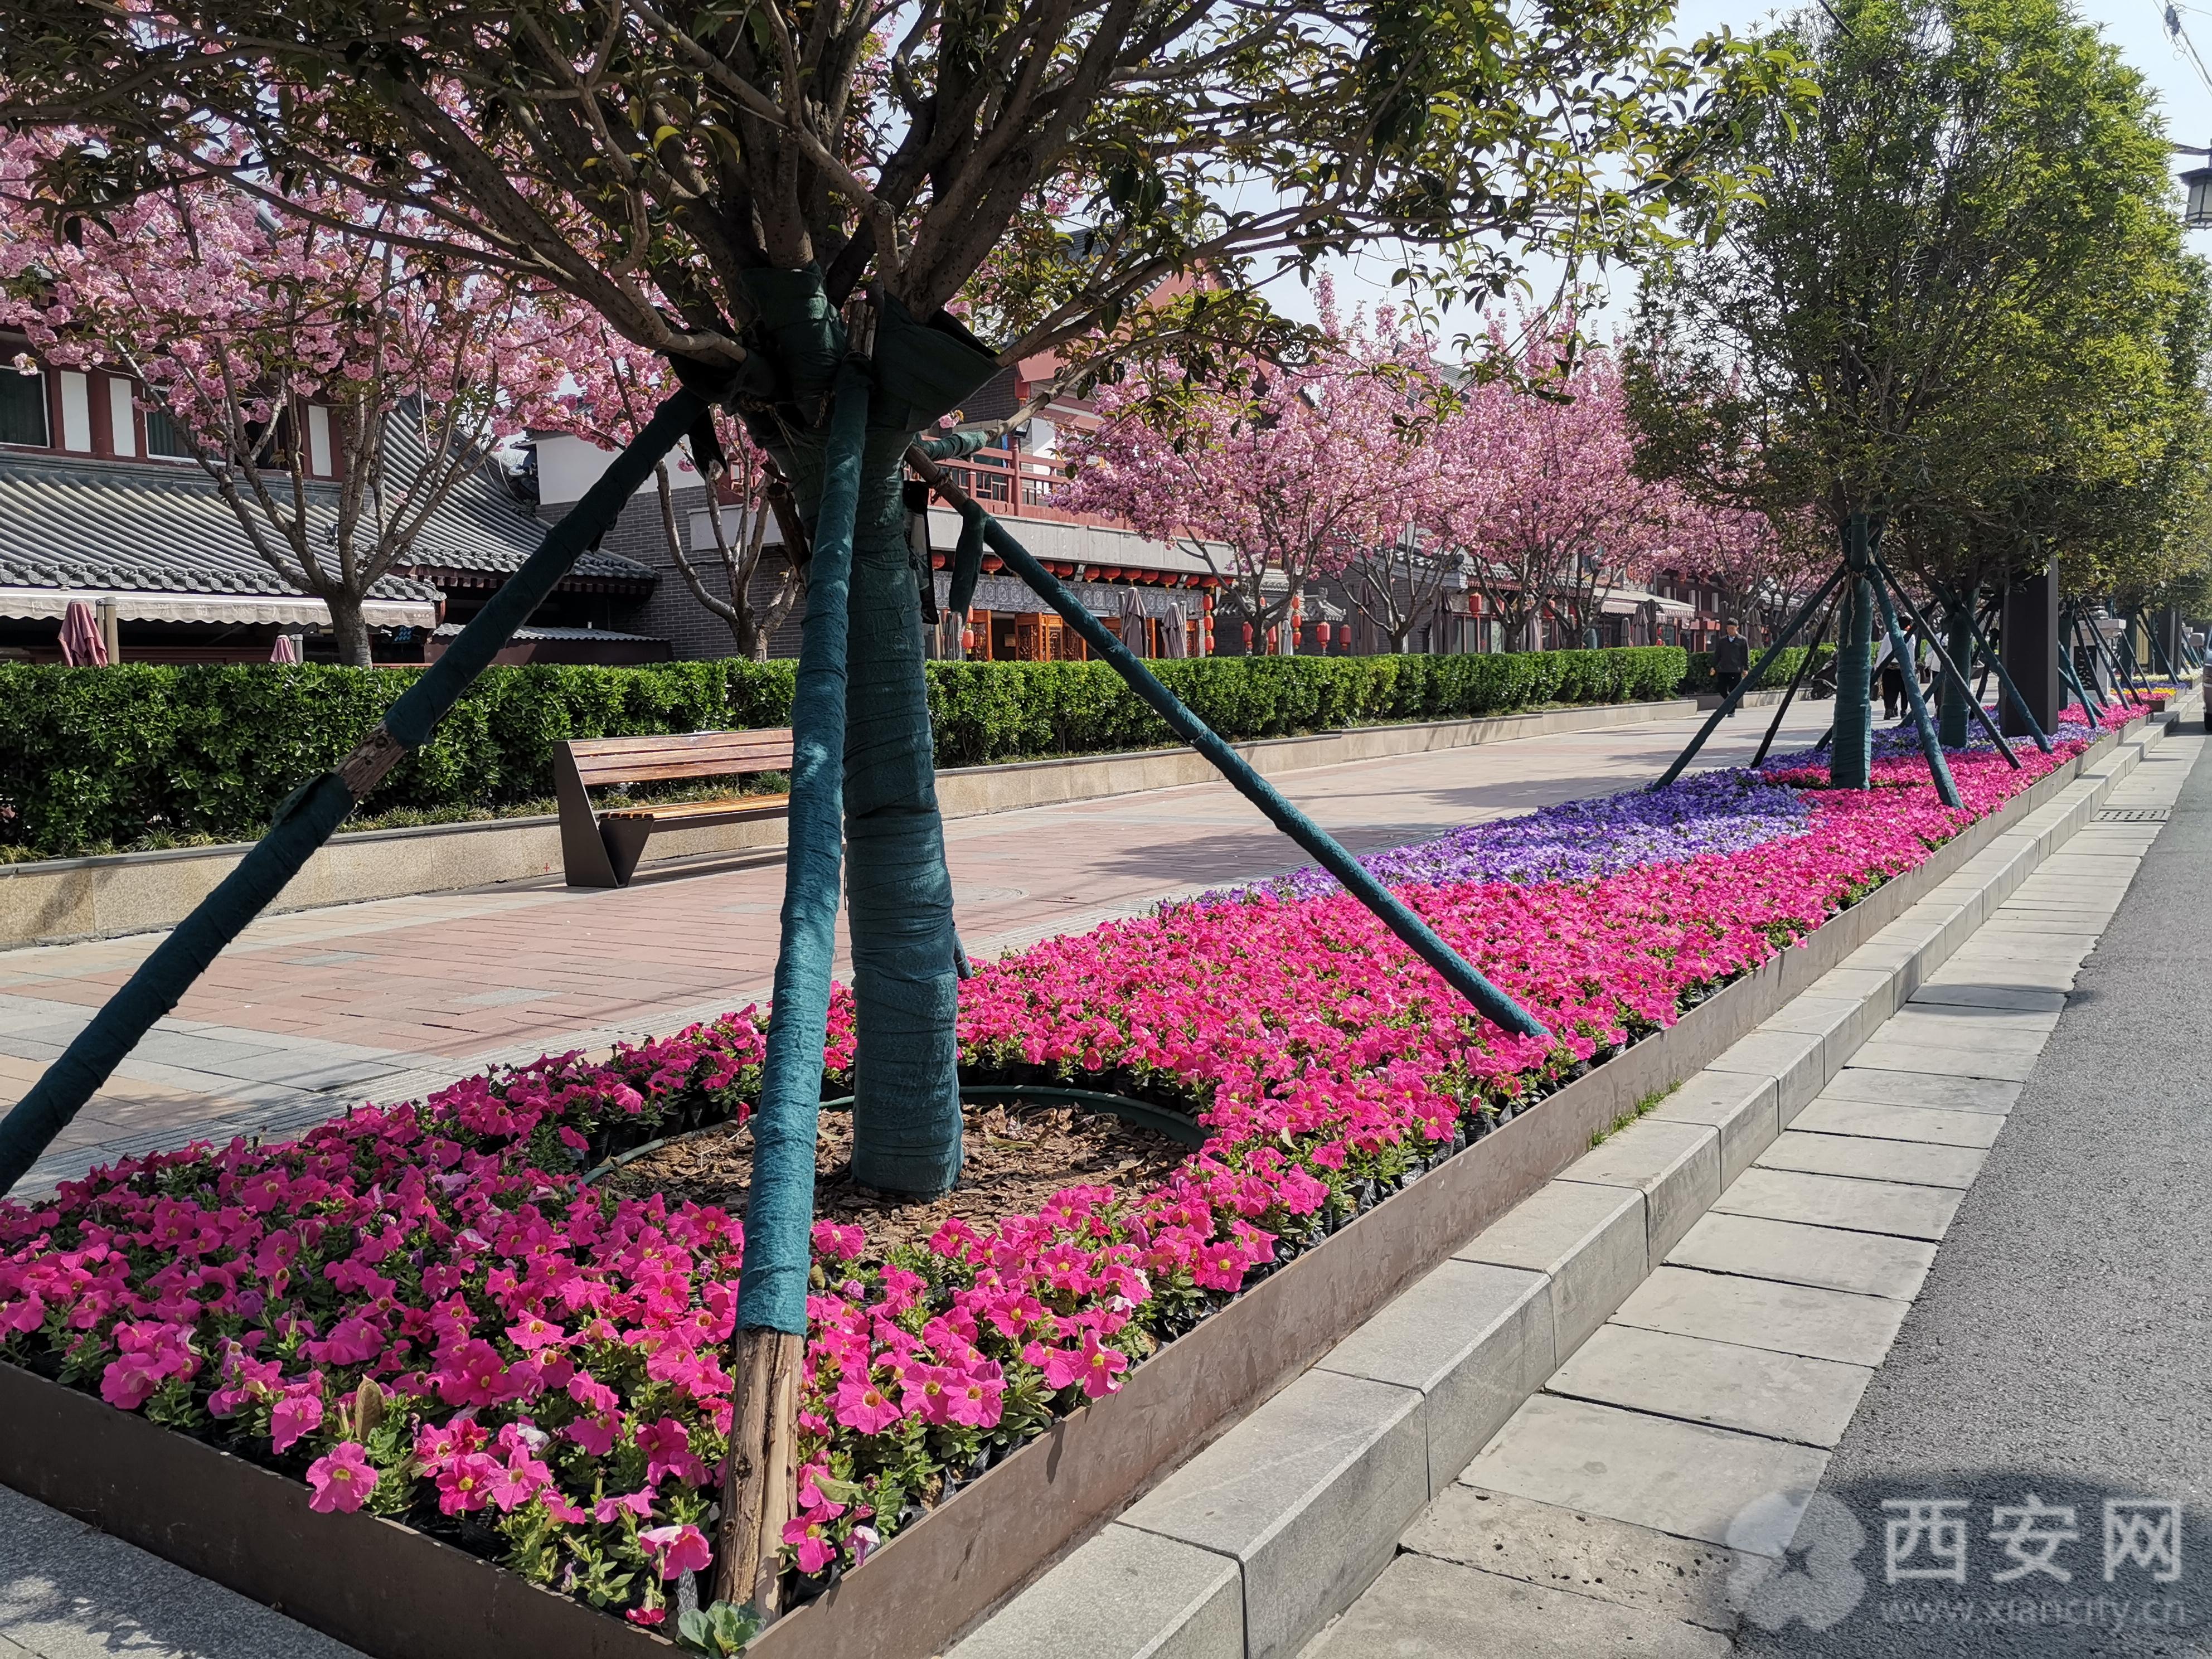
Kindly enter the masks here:
<path id="1" fill-rule="evenodd" d="M 661 398 L 675 392 L 668 358 L 630 345 L 599 321 L 573 330 L 566 319 L 557 319 L 555 332 L 571 343 L 566 358 L 571 385 L 546 409 L 542 427 L 575 434 L 602 449 L 626 447 L 653 418 Z M 768 661 L 770 637 L 805 595 L 805 538 L 796 526 L 790 489 L 768 453 L 726 411 L 714 411 L 710 418 L 721 456 L 690 460 L 708 484 L 706 522 L 714 538 L 714 562 L 721 566 L 721 593 L 708 586 L 686 549 L 668 458 L 653 469 L 661 502 L 661 535 L 692 599 L 730 626 L 737 655 Z M 772 518 L 779 522 L 787 562 L 776 582 L 757 593 Z"/>

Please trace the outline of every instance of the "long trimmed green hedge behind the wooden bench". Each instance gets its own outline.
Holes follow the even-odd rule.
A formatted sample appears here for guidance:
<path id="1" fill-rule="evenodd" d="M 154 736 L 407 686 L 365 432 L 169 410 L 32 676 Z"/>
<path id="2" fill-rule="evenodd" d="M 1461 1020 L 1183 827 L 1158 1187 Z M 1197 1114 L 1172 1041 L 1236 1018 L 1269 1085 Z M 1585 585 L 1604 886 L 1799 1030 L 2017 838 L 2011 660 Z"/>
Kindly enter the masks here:
<path id="1" fill-rule="evenodd" d="M 1672 646 L 1491 657 L 1212 657 L 1155 670 L 1214 730 L 1283 737 L 1537 703 L 1677 695 Z M 0 664 L 0 847 L 62 858 L 157 836 L 250 841 L 414 679 L 403 668 Z M 792 664 L 493 668 L 365 814 L 471 812 L 553 794 L 553 743 L 783 726 Z M 1170 741 L 1106 664 L 931 664 L 938 765 Z"/>

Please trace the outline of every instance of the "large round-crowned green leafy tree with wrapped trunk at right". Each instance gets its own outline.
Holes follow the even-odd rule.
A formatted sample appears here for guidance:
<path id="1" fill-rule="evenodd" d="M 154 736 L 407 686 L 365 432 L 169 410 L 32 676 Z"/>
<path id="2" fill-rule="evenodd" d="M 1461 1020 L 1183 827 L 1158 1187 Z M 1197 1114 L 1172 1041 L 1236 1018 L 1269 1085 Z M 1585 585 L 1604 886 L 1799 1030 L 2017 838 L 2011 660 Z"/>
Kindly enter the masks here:
<path id="1" fill-rule="evenodd" d="M 2194 396 L 2157 115 L 2064 0 L 1840 0 L 1770 44 L 1820 102 L 1761 126 L 1759 201 L 1646 281 L 1639 465 L 1814 507 L 1847 557 L 1889 531 L 1885 562 L 1971 604 L 2062 495 L 2154 469 Z M 1865 783 L 1871 617 L 1854 577 L 1838 783 Z"/>

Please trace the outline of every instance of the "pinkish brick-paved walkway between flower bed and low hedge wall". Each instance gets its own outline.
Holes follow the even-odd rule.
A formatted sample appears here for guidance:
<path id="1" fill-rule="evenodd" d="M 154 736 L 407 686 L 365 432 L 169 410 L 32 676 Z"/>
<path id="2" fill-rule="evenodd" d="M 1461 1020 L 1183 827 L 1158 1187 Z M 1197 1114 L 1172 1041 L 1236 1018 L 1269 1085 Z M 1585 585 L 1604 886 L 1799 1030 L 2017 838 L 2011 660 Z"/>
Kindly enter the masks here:
<path id="1" fill-rule="evenodd" d="M 1829 703 L 1794 710 L 1809 743 Z M 1750 759 L 1763 712 L 1708 757 Z M 1296 772 L 1285 792 L 1356 849 L 1389 847 L 1659 774 L 1694 721 Z M 947 827 L 975 956 L 1305 863 L 1228 785 L 1033 807 Z M 765 995 L 779 856 L 668 867 L 624 891 L 555 880 L 394 898 L 254 925 L 33 1170 L 38 1190 L 190 1137 L 296 1130 L 493 1062 L 661 1033 Z M 18 1099 L 157 936 L 0 953 L 0 1104 Z"/>

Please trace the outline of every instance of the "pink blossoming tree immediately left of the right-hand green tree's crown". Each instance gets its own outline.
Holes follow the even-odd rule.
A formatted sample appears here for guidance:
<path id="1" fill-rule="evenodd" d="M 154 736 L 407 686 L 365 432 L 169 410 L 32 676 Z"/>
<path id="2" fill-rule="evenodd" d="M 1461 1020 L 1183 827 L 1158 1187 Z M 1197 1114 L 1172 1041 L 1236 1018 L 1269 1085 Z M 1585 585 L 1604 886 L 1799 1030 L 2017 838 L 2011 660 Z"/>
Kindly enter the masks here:
<path id="1" fill-rule="evenodd" d="M 1632 471 L 1608 352 L 1575 354 L 1568 327 L 1524 327 L 1509 345 L 1493 325 L 1491 354 L 1513 374 L 1469 385 L 1438 431 L 1440 524 L 1511 644 L 1546 615 L 1575 637 L 1646 568 L 1661 502 Z"/>

